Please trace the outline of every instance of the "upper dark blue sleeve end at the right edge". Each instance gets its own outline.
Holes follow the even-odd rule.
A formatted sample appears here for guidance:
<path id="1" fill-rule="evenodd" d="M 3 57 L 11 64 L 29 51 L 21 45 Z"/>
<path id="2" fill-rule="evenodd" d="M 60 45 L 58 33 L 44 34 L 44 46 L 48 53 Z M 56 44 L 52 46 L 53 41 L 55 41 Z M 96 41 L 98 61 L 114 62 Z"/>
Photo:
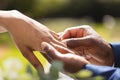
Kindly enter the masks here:
<path id="1" fill-rule="evenodd" d="M 111 43 L 114 53 L 114 67 L 120 67 L 120 43 Z"/>

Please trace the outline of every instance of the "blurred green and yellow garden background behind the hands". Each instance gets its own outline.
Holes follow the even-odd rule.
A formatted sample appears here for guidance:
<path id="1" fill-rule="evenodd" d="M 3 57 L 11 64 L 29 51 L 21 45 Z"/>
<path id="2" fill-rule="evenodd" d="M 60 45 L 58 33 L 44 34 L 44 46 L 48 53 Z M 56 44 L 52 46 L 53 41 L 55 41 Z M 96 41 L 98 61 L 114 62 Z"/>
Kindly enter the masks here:
<path id="1" fill-rule="evenodd" d="M 106 41 L 120 41 L 120 0 L 0 0 L 0 10 L 18 10 L 56 32 L 68 27 L 90 25 Z M 39 52 L 35 54 L 39 56 Z M 45 65 L 45 59 L 40 60 Z M 2 72 L 9 71 L 6 66 L 18 67 L 15 61 L 20 63 L 19 67 L 21 65 L 22 70 L 19 69 L 18 73 L 24 73 L 29 62 L 21 55 L 9 34 L 1 33 L 0 76 L 4 76 Z"/>

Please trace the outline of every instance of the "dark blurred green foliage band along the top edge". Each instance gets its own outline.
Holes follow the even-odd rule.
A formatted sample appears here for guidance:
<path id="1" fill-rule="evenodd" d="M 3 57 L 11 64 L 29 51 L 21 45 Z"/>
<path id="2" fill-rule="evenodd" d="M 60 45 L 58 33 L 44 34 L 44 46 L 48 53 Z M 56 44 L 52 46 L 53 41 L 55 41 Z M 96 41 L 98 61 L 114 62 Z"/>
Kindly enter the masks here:
<path id="1" fill-rule="evenodd" d="M 111 14 L 119 17 L 119 0 L 0 0 L 0 9 L 16 9 L 33 18 L 51 16 L 99 19 Z"/>

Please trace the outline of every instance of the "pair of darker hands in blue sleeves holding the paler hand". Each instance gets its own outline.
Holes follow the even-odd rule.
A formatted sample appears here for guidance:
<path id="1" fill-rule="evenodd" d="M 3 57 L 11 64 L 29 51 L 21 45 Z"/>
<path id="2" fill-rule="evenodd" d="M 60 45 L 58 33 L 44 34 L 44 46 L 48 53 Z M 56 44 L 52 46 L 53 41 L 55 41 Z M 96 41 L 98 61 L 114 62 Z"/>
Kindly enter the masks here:
<path id="1" fill-rule="evenodd" d="M 48 61 L 62 61 L 65 71 L 74 73 L 86 64 L 113 65 L 113 51 L 110 44 L 90 26 L 68 28 L 60 35 L 60 38 L 67 48 L 46 42 L 43 42 L 41 46 Z M 66 50 L 66 52 L 60 50 Z"/>

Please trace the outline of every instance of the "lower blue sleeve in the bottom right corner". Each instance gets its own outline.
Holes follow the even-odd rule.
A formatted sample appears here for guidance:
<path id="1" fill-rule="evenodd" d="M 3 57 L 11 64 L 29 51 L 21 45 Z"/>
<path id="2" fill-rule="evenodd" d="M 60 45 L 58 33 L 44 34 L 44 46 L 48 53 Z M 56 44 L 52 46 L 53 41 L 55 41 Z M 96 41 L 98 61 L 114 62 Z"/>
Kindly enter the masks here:
<path id="1" fill-rule="evenodd" d="M 93 76 L 103 76 L 105 80 L 120 80 L 120 68 L 87 64 L 84 69 L 93 72 Z"/>

